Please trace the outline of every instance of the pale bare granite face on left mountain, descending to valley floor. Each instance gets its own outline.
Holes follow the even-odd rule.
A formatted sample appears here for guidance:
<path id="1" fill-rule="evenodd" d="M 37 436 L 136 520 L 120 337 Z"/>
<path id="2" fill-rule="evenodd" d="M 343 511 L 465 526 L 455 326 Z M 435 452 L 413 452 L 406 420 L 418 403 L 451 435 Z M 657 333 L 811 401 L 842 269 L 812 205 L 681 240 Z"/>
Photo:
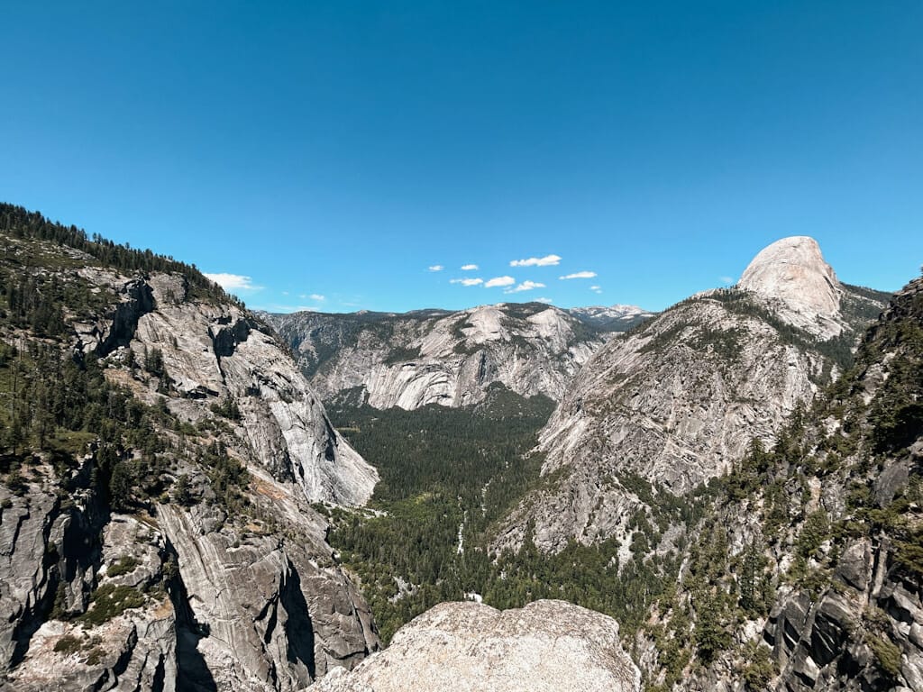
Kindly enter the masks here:
<path id="1" fill-rule="evenodd" d="M 158 308 L 139 318 L 131 344 L 138 360 L 160 349 L 180 392 L 234 398 L 255 460 L 309 500 L 364 504 L 378 473 L 333 430 L 281 344 L 234 305 L 171 304 L 180 290 L 167 276 L 154 282 Z"/>

